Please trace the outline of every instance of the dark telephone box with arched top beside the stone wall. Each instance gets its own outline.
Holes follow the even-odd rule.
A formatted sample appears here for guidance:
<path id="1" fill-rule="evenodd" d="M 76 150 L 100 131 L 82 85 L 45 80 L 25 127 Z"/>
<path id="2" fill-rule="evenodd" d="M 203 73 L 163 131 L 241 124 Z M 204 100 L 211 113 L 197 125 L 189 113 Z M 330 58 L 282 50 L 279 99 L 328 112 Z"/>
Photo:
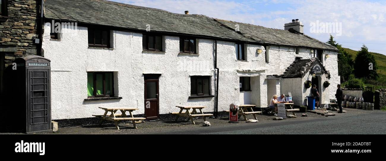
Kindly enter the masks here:
<path id="1" fill-rule="evenodd" d="M 28 55 L 17 58 L 18 107 L 24 133 L 52 132 L 50 60 Z"/>

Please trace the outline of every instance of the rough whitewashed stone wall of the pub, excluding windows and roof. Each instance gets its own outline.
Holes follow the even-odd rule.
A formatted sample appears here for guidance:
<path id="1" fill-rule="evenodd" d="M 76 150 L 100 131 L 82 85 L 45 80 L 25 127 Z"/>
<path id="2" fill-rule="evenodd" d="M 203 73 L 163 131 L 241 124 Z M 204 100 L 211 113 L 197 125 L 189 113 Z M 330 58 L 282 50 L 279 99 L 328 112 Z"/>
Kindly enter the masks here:
<path id="1" fill-rule="evenodd" d="M 46 25 L 44 29 L 49 31 L 50 28 Z M 86 27 L 78 27 L 77 30 L 64 28 L 63 32 L 61 40 L 51 40 L 49 32 L 44 33 L 43 39 L 45 57 L 51 60 L 53 120 L 92 117 L 94 114 L 103 112 L 98 109 L 99 106 L 137 107 L 139 110 L 134 114 L 143 114 L 143 74 L 147 73 L 162 74 L 159 78 L 160 114 L 177 111 L 176 105 L 203 105 L 208 106 L 204 112 L 214 111 L 215 98 L 188 98 L 190 76 L 193 75 L 211 76 L 210 93 L 215 95 L 217 80 L 215 80 L 216 71 L 213 68 L 214 40 L 198 39 L 199 54 L 185 55 L 179 54 L 179 37 L 164 36 L 165 52 L 152 53 L 142 51 L 141 33 L 113 31 L 113 49 L 103 49 L 88 47 Z M 283 73 L 285 68 L 295 60 L 295 56 L 310 57 L 306 49 L 301 49 L 300 54 L 295 55 L 294 48 L 272 46 L 269 52 L 270 63 L 265 63 L 264 47 L 246 44 L 247 60 L 237 61 L 234 42 L 217 41 L 217 43 L 220 69 L 218 111 L 228 109 L 231 103 L 244 103 L 240 102 L 240 97 L 244 98 L 246 95 L 249 95 L 247 96 L 249 103 L 256 104 L 258 107 L 267 106 L 266 75 Z M 257 53 L 258 48 L 263 50 L 262 54 Z M 276 57 L 278 61 L 275 61 Z M 327 61 L 334 62 L 333 59 L 327 59 Z M 84 101 L 87 98 L 86 73 L 88 71 L 113 71 L 115 96 L 123 99 Z M 251 77 L 250 92 L 240 93 L 240 76 Z M 284 81 L 294 85 L 302 82 L 290 79 Z M 303 96 L 302 93 L 296 93 L 294 90 L 280 86 L 279 83 L 276 84 L 278 92 L 280 89 L 279 93 L 291 91 L 294 98 L 297 95 Z M 295 101 L 301 102 L 301 100 Z"/>

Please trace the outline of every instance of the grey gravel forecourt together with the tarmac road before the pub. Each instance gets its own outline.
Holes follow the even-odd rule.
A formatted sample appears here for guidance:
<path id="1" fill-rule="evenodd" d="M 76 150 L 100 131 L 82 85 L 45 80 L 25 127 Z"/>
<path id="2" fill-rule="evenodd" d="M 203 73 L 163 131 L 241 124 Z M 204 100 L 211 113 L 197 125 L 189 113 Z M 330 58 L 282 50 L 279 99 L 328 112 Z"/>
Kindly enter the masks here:
<path id="1" fill-rule="evenodd" d="M 321 116 L 307 112 L 308 117 L 285 120 L 273 120 L 276 116 L 257 115 L 259 122 L 228 123 L 228 117 L 208 118 L 209 127 L 203 127 L 203 119 L 190 121 L 146 121 L 137 124 L 134 129 L 131 123 L 120 123 L 120 130 L 113 123 L 105 121 L 102 126 L 96 124 L 73 128 L 59 128 L 52 134 L 384 134 L 386 132 L 386 111 L 357 110 L 344 108 L 346 113 L 336 116 Z M 247 118 L 253 119 L 252 115 Z M 242 119 L 242 118 L 241 118 Z M 10 134 L 10 133 L 3 133 Z"/>

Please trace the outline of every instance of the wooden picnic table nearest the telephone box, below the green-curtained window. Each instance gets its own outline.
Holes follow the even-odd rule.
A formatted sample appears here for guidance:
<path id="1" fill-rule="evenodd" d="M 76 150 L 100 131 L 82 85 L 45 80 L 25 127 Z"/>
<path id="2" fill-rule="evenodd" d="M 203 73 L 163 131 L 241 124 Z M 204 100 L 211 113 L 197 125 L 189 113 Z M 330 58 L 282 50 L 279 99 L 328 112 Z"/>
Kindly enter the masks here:
<path id="1" fill-rule="evenodd" d="M 115 124 L 115 127 L 119 130 L 119 121 L 121 120 L 131 120 L 133 123 L 133 126 L 135 129 L 137 129 L 137 126 L 135 126 L 135 121 L 142 121 L 146 118 L 135 118 L 132 114 L 133 111 L 138 110 L 138 108 L 131 108 L 131 107 L 99 107 L 102 110 L 105 110 L 105 113 L 103 115 L 93 115 L 99 119 L 99 126 L 102 125 L 103 120 L 113 121 Z M 120 111 L 120 114 L 116 114 L 117 111 Z M 129 111 L 130 115 L 126 115 L 126 111 Z M 107 114 L 110 112 L 110 114 Z"/>

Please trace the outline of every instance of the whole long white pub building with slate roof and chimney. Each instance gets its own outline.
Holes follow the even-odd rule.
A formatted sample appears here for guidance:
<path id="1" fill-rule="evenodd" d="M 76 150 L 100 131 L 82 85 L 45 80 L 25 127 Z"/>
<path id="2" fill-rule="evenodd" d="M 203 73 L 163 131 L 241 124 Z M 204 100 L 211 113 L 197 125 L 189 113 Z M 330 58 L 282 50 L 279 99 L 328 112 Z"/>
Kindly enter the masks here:
<path id="1" fill-rule="evenodd" d="M 337 48 L 304 35 L 298 20 L 279 30 L 102 0 L 46 0 L 44 9 L 52 120 L 90 118 L 100 106 L 136 107 L 147 119 L 177 105 L 267 107 L 288 92 L 307 105 L 306 81 L 324 105 L 340 82 Z M 55 33 L 52 20 L 77 26 Z"/>

